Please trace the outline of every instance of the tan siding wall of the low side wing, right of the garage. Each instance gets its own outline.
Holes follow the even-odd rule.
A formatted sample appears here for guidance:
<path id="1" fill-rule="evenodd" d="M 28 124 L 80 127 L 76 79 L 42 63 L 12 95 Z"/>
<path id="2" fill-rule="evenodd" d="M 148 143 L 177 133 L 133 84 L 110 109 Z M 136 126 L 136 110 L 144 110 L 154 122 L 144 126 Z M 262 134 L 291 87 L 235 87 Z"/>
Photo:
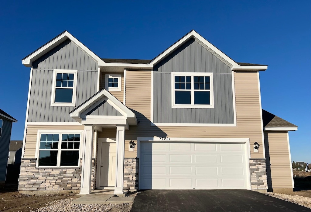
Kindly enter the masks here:
<path id="1" fill-rule="evenodd" d="M 264 132 L 267 180 L 271 188 L 292 188 L 287 132 Z"/>

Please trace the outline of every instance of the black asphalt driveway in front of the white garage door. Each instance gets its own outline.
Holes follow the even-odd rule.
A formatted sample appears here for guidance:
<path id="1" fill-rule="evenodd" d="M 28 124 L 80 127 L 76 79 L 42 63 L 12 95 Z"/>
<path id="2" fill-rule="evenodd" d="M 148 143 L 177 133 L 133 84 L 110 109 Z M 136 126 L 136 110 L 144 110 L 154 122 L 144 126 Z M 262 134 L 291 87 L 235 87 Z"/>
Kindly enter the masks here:
<path id="1" fill-rule="evenodd" d="M 301 205 L 248 190 L 146 190 L 131 212 L 175 211 L 311 211 Z"/>

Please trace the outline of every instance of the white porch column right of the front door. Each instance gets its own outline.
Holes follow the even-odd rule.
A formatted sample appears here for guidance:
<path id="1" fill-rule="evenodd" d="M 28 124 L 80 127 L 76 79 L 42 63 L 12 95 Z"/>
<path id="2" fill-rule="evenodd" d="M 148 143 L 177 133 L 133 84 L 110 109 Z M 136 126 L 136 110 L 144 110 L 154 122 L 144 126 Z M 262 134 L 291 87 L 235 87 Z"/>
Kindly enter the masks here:
<path id="1" fill-rule="evenodd" d="M 123 194 L 124 142 L 125 142 L 125 126 L 117 126 L 117 145 L 116 145 L 117 169 L 116 169 L 114 194 Z"/>

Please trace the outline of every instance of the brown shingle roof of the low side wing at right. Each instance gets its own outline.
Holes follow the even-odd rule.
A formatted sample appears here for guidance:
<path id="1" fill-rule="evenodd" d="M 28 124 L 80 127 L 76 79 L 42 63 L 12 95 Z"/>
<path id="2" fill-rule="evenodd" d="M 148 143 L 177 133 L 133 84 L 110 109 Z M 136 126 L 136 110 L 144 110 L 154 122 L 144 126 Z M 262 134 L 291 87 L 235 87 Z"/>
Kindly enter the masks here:
<path id="1" fill-rule="evenodd" d="M 281 119 L 280 117 L 269 113 L 268 111 L 262 110 L 262 124 L 263 127 L 297 127 L 295 124 L 292 124 L 284 119 Z"/>

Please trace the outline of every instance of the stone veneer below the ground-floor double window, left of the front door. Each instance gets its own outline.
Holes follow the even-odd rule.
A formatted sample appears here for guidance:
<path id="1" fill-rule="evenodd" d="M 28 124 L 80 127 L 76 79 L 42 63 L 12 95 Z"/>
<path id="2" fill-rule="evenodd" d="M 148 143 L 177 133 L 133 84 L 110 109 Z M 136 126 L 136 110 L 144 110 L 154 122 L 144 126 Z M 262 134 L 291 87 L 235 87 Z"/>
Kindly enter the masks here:
<path id="1" fill-rule="evenodd" d="M 44 194 L 53 190 L 80 192 L 81 166 L 77 168 L 38 168 L 36 158 L 22 158 L 18 190 L 24 194 Z M 94 188 L 95 159 L 92 160 L 91 188 Z"/>

